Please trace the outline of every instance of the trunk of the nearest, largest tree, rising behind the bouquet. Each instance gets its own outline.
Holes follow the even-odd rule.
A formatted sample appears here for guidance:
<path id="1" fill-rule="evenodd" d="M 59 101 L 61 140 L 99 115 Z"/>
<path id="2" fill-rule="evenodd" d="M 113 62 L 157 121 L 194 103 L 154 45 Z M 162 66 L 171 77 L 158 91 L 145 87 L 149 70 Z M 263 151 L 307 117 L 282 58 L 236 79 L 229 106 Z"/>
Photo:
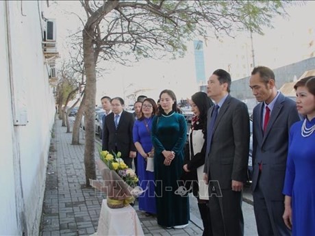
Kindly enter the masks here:
<path id="1" fill-rule="evenodd" d="M 95 172 L 95 96 L 97 90 L 97 80 L 95 71 L 95 58 L 92 43 L 94 35 L 92 27 L 84 27 L 83 50 L 84 67 L 86 72 L 86 109 L 84 114 L 86 145 L 84 149 L 84 166 L 86 168 L 86 186 L 90 186 L 89 179 L 96 179 Z"/>

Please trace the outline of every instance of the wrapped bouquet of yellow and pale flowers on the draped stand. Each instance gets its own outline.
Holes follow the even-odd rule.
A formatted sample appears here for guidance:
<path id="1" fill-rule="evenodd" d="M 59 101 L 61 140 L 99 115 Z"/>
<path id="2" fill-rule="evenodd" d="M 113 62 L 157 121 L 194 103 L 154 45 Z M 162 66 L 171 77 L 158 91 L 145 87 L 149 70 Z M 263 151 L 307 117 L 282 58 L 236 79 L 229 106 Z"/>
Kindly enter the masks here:
<path id="1" fill-rule="evenodd" d="M 108 207 L 121 208 L 134 202 L 134 196 L 139 196 L 143 191 L 137 186 L 138 177 L 134 170 L 128 168 L 121 153 L 101 151 L 97 166 L 103 181 L 90 181 L 92 186 L 105 192 Z"/>

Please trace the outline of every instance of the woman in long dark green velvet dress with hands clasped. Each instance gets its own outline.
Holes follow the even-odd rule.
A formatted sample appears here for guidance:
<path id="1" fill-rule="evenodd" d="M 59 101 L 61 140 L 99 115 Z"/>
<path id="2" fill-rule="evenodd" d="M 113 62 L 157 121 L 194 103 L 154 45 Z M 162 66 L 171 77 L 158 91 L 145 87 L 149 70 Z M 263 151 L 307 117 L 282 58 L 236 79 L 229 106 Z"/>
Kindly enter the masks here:
<path id="1" fill-rule="evenodd" d="M 184 116 L 176 111 L 174 92 L 163 90 L 159 113 L 153 118 L 152 142 L 157 224 L 166 228 L 184 228 L 189 220 L 188 194 L 182 191 L 179 181 L 184 171 L 187 124 Z"/>

